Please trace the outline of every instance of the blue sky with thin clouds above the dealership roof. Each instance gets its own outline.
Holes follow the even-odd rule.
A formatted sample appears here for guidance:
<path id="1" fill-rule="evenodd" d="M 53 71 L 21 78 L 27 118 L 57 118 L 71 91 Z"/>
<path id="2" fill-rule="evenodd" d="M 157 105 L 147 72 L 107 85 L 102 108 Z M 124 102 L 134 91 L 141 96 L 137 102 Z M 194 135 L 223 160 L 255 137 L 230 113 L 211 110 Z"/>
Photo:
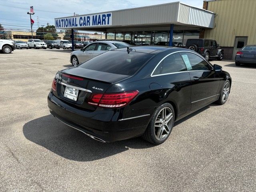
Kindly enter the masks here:
<path id="1" fill-rule="evenodd" d="M 76 14 L 90 14 L 155 4 L 177 2 L 178 0 L 0 0 L 0 23 L 8 29 L 30 29 L 29 11 L 34 6 L 33 30 L 46 23 L 54 24 L 54 18 Z M 202 8 L 203 0 L 181 0 L 180 2 Z M 48 12 L 46 12 L 48 11 Z M 58 13 L 56 13 L 58 12 Z"/>

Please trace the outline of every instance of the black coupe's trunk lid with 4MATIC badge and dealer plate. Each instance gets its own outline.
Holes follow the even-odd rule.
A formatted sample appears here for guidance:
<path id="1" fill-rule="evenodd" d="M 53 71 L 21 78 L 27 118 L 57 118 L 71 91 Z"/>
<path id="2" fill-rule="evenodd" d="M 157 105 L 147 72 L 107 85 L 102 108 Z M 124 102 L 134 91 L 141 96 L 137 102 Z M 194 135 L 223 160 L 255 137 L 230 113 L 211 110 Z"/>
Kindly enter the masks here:
<path id="1" fill-rule="evenodd" d="M 92 93 L 104 93 L 114 82 L 129 77 L 80 67 L 62 70 L 57 76 L 54 95 L 71 106 L 88 110 L 97 108 L 87 103 Z"/>

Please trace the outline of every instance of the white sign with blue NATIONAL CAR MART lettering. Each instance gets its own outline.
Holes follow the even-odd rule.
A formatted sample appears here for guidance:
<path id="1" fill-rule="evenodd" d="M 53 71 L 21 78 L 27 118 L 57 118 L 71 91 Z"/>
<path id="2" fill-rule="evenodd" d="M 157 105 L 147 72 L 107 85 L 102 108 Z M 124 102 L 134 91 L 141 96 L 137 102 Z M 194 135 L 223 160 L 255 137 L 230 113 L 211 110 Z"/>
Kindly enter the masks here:
<path id="1" fill-rule="evenodd" d="M 112 25 L 112 13 L 55 19 L 55 28 L 83 28 Z"/>

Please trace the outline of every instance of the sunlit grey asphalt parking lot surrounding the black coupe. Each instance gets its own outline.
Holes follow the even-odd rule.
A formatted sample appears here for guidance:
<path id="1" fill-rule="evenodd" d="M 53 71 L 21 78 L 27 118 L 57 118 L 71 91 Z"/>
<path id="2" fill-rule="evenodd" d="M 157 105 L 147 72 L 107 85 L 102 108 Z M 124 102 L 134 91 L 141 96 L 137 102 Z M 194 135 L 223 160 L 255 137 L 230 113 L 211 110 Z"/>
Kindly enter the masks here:
<path id="1" fill-rule="evenodd" d="M 159 146 L 101 143 L 50 115 L 70 50 L 0 54 L 0 191 L 256 191 L 256 65 L 220 64 L 228 101 L 175 123 Z"/>

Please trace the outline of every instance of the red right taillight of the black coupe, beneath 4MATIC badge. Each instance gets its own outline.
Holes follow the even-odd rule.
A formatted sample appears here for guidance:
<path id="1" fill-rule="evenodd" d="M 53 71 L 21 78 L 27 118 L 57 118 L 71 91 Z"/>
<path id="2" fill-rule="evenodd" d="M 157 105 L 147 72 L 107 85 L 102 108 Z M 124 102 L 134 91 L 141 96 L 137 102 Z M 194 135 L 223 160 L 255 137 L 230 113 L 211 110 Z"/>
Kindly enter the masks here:
<path id="1" fill-rule="evenodd" d="M 137 90 L 119 93 L 93 93 L 88 100 L 88 104 L 105 108 L 123 107 L 130 103 L 138 93 Z"/>

